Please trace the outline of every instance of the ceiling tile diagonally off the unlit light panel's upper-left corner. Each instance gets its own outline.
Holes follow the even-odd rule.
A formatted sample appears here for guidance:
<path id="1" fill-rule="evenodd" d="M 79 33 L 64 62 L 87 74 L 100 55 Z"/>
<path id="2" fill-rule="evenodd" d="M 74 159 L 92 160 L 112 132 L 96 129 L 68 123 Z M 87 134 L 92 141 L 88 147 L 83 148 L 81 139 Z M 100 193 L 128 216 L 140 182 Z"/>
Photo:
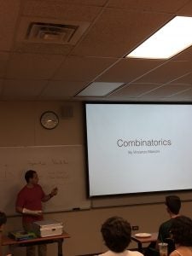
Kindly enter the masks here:
<path id="1" fill-rule="evenodd" d="M 112 58 L 69 56 L 55 73 L 55 80 L 90 81 L 115 62 Z"/>

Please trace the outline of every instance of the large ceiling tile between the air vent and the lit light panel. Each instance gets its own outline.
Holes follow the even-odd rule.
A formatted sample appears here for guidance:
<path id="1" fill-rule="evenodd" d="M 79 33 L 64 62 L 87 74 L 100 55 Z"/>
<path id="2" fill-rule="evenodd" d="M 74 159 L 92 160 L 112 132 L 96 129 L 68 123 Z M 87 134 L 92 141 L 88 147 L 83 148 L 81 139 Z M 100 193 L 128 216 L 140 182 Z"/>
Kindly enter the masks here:
<path id="1" fill-rule="evenodd" d="M 73 54 L 122 57 L 171 18 L 166 14 L 105 9 Z"/>

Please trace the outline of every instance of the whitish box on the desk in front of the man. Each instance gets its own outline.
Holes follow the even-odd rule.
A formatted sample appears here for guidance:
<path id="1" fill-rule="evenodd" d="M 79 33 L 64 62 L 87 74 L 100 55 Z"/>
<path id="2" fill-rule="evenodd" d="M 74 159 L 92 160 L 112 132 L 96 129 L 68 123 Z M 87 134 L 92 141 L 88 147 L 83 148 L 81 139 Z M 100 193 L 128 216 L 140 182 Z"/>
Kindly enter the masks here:
<path id="1" fill-rule="evenodd" d="M 42 220 L 33 223 L 33 231 L 37 236 L 59 236 L 62 234 L 63 224 L 56 220 Z"/>

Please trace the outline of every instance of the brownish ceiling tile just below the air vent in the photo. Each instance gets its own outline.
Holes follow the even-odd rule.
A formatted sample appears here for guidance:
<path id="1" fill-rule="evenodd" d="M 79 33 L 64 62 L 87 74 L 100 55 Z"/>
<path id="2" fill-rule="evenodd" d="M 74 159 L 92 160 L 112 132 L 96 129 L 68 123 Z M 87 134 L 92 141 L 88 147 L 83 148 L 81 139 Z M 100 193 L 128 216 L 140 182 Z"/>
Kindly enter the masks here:
<path id="1" fill-rule="evenodd" d="M 62 60 L 62 55 L 13 54 L 7 79 L 49 79 Z"/>

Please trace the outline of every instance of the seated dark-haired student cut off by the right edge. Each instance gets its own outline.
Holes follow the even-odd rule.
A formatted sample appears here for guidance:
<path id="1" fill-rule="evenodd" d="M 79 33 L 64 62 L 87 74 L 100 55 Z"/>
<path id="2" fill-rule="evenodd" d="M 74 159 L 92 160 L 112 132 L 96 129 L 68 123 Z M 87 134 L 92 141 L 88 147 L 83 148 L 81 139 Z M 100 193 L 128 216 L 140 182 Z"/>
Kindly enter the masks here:
<path id="1" fill-rule="evenodd" d="M 170 232 L 176 246 L 170 256 L 192 256 L 192 219 L 185 216 L 174 218 Z"/>

